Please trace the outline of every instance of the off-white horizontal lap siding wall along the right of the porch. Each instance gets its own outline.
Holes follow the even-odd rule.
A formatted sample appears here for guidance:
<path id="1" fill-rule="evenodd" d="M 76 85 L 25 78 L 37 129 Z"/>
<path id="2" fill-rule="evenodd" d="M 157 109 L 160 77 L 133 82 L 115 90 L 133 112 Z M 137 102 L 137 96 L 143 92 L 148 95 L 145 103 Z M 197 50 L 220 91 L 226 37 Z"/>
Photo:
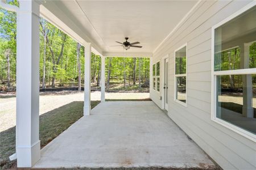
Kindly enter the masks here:
<path id="1" fill-rule="evenodd" d="M 163 57 L 169 54 L 168 115 L 224 169 L 256 169 L 256 143 L 210 119 L 211 28 L 251 1 L 202 1 L 154 52 L 160 60 L 160 92 L 151 99 L 162 108 Z M 171 30 L 170 30 L 171 32 Z M 188 43 L 187 107 L 174 101 L 174 50 Z M 152 79 L 151 79 L 152 83 Z"/>

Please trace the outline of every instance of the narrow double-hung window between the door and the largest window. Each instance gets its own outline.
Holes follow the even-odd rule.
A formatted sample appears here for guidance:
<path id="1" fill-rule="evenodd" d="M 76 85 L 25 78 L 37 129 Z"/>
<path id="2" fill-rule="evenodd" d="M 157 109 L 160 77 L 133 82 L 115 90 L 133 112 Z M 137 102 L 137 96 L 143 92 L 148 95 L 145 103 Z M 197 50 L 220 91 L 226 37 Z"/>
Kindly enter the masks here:
<path id="1" fill-rule="evenodd" d="M 187 45 L 175 51 L 174 100 L 186 105 L 187 100 Z"/>

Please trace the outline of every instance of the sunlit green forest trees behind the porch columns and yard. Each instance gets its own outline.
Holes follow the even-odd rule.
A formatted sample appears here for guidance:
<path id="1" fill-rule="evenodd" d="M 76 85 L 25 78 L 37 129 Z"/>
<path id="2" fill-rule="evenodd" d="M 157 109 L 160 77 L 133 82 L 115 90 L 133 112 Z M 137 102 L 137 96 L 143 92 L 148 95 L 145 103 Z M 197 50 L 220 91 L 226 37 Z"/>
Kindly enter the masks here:
<path id="1" fill-rule="evenodd" d="M 17 5 L 17 1 L 9 3 Z M 16 85 L 16 13 L 0 8 L 0 91 Z M 101 57 L 92 53 L 91 82 L 100 86 Z M 107 57 L 106 90 L 149 87 L 149 58 Z M 81 84 L 79 83 L 81 82 Z M 40 88 L 79 87 L 84 84 L 84 46 L 40 19 Z"/>

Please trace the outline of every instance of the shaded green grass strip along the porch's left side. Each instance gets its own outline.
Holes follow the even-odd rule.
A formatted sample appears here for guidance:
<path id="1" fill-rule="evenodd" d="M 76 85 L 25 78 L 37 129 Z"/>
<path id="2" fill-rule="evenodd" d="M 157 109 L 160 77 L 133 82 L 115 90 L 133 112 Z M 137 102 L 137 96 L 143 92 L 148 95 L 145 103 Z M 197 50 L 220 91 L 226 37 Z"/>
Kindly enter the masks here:
<path id="1" fill-rule="evenodd" d="M 99 103 L 100 101 L 91 101 L 91 107 L 94 108 Z M 73 101 L 40 115 L 39 139 L 41 148 L 79 120 L 83 116 L 83 107 L 84 101 Z M 15 126 L 0 133 L 0 169 L 15 167 L 16 160 L 9 160 L 9 156 L 14 153 Z"/>

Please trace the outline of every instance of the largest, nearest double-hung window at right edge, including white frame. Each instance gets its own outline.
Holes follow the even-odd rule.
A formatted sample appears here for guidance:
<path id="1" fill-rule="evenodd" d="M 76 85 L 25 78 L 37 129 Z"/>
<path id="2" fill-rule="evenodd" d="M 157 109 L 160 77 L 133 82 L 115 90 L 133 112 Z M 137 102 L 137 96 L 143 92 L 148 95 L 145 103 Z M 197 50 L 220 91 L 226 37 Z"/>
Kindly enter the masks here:
<path id="1" fill-rule="evenodd" d="M 212 29 L 212 118 L 255 139 L 256 6 L 238 12 Z"/>

